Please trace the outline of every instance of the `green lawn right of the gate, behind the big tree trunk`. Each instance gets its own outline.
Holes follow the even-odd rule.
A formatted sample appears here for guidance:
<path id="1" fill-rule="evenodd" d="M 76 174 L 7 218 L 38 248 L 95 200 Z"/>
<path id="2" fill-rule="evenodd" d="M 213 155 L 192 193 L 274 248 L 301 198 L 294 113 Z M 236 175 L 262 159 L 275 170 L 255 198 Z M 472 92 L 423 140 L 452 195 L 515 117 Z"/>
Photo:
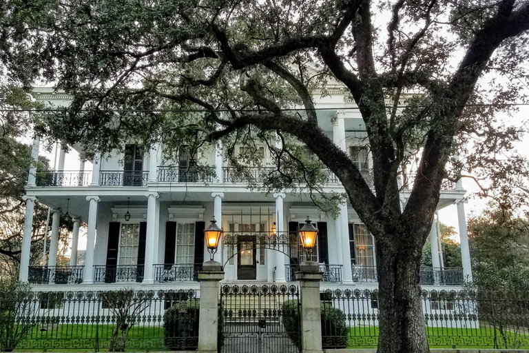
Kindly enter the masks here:
<path id="1" fill-rule="evenodd" d="M 505 341 L 499 330 L 492 327 L 450 328 L 427 327 L 428 343 L 431 348 L 495 348 L 495 340 L 499 348 L 506 348 Z M 496 334 L 496 339 L 495 339 Z M 351 327 L 348 348 L 376 347 L 378 337 L 377 326 Z M 529 334 L 506 332 L 507 348 L 529 349 Z"/>

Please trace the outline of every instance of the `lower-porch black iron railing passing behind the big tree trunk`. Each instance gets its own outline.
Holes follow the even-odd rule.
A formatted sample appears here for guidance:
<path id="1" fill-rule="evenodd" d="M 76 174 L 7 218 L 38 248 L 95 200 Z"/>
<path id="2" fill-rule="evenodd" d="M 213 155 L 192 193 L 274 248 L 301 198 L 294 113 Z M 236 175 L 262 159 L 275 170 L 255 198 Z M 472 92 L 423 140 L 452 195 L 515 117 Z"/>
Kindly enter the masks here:
<path id="1" fill-rule="evenodd" d="M 353 265 L 354 282 L 378 282 L 377 268 L 374 266 Z M 421 268 L 419 283 L 422 285 L 462 285 L 462 268 Z"/>

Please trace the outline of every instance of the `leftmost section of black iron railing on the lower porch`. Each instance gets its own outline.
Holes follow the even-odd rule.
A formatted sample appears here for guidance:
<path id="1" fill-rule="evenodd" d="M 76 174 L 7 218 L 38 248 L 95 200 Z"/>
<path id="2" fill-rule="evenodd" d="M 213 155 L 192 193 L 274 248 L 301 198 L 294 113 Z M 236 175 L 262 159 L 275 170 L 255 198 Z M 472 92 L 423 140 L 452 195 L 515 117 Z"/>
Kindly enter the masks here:
<path id="1" fill-rule="evenodd" d="M 83 283 L 84 266 L 30 266 L 28 282 L 31 284 Z"/>

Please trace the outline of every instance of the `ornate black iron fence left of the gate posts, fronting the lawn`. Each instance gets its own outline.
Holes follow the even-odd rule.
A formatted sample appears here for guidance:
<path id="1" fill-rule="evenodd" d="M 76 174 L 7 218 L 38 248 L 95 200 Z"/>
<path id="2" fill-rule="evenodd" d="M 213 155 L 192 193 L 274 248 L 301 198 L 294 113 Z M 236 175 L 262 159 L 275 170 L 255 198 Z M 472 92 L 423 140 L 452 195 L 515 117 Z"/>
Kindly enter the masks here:
<path id="1" fill-rule="evenodd" d="M 148 352 L 196 350 L 200 305 L 194 290 L 0 293 L 7 351 Z"/>

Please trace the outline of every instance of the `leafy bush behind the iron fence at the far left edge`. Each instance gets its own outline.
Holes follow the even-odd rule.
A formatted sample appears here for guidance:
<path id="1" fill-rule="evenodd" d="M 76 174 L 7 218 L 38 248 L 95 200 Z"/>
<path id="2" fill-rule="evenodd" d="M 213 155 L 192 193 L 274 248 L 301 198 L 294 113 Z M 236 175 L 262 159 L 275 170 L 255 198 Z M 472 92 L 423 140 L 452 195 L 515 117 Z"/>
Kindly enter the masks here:
<path id="1" fill-rule="evenodd" d="M 17 279 L 0 278 L 0 352 L 11 352 L 34 327 L 31 288 Z"/>

